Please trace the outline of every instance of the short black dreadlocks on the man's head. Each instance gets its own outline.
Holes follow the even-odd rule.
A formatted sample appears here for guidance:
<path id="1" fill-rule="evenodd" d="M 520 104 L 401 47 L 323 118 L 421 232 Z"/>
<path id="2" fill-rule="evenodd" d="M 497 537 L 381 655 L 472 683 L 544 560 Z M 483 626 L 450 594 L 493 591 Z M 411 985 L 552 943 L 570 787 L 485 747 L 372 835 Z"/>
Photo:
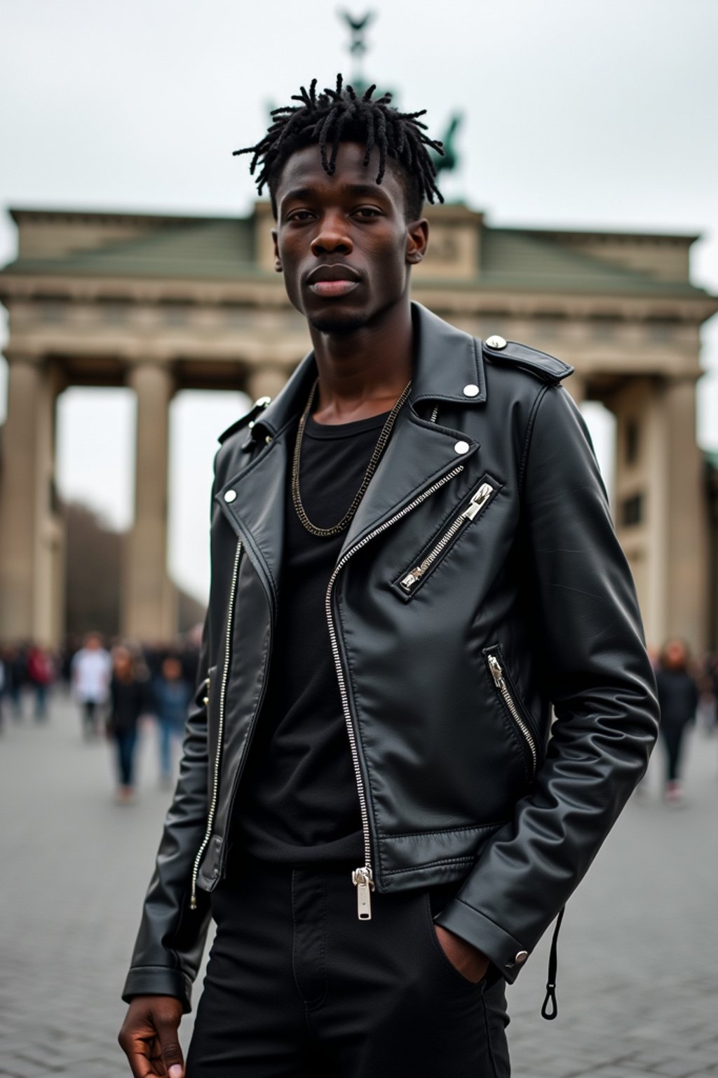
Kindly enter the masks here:
<path id="1" fill-rule="evenodd" d="M 375 146 L 378 148 L 377 183 L 381 183 L 386 171 L 386 158 L 392 157 L 399 166 L 404 180 L 408 220 L 413 221 L 421 216 L 424 198 L 433 203 L 436 195 L 439 202 L 444 202 L 436 185 L 436 169 L 426 149 L 431 147 L 444 154 L 444 148 L 441 142 L 424 135 L 426 124 L 422 124 L 419 116 L 423 116 L 426 109 L 399 112 L 390 107 L 391 94 L 382 94 L 374 100 L 376 88 L 376 84 L 369 86 L 360 97 L 349 83 L 343 85 L 343 78 L 338 74 L 335 89 L 325 88 L 324 93 L 318 94 L 316 79 L 312 79 L 309 92 L 301 86 L 298 94 L 292 95 L 292 100 L 300 105 L 285 105 L 271 110 L 272 123 L 256 146 L 234 151 L 235 155 L 253 154 L 250 166 L 252 176 L 257 165 L 261 166 L 256 179 L 257 192 L 262 194 L 265 185 L 269 188 L 274 217 L 274 192 L 284 164 L 295 151 L 313 143 L 319 146 L 322 166 L 328 176 L 335 171 L 341 142 L 358 142 L 366 148 L 365 167 Z M 327 142 L 332 143 L 330 155 Z"/>

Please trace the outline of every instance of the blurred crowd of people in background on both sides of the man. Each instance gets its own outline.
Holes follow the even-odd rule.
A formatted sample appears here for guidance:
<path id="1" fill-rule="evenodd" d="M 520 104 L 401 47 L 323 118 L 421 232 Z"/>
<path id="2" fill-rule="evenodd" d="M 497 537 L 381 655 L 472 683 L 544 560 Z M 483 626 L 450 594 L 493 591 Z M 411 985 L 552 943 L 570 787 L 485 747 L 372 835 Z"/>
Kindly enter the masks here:
<path id="1" fill-rule="evenodd" d="M 157 729 L 159 780 L 173 784 L 179 745 L 194 692 L 200 627 L 173 645 L 103 640 L 88 633 L 54 651 L 40 644 L 0 645 L 0 730 L 26 716 L 48 717 L 48 694 L 65 691 L 78 707 L 82 736 L 114 744 L 117 800 L 132 801 L 138 727 L 143 717 Z M 661 705 L 663 797 L 682 803 L 681 765 L 686 731 L 718 730 L 718 653 L 695 659 L 684 640 L 668 639 L 651 655 Z"/>

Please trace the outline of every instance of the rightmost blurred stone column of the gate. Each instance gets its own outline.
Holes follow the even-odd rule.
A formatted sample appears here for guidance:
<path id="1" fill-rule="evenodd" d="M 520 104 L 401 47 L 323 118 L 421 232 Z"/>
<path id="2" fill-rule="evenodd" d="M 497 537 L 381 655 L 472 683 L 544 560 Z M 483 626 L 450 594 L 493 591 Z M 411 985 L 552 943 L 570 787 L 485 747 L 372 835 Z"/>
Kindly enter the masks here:
<path id="1" fill-rule="evenodd" d="M 707 647 L 709 552 L 703 455 L 695 441 L 694 377 L 668 379 L 663 403 L 666 635 L 684 637 L 700 652 Z"/>

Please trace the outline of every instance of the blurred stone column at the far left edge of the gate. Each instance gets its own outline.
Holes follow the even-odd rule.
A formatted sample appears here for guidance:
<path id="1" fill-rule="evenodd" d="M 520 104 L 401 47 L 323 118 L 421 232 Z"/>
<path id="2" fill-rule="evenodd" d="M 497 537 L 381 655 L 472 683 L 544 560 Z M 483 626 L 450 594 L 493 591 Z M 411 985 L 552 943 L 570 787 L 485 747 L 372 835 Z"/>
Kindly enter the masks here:
<path id="1" fill-rule="evenodd" d="M 59 642 L 53 506 L 56 387 L 41 360 L 9 358 L 0 478 L 0 638 Z"/>

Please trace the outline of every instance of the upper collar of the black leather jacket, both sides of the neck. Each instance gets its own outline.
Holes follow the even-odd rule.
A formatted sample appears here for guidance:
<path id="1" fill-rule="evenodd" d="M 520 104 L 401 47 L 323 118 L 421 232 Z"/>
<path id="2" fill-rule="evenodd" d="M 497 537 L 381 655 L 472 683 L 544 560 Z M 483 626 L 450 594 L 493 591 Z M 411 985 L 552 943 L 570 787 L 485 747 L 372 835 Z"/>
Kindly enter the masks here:
<path id="1" fill-rule="evenodd" d="M 411 401 L 452 401 L 461 404 L 482 404 L 487 399 L 487 383 L 480 342 L 432 314 L 421 303 L 411 304 L 411 320 L 416 335 L 414 369 Z M 307 353 L 286 385 L 256 419 L 252 438 L 273 438 L 307 402 L 316 377 L 314 350 Z M 471 388 L 469 396 L 466 387 Z"/>

